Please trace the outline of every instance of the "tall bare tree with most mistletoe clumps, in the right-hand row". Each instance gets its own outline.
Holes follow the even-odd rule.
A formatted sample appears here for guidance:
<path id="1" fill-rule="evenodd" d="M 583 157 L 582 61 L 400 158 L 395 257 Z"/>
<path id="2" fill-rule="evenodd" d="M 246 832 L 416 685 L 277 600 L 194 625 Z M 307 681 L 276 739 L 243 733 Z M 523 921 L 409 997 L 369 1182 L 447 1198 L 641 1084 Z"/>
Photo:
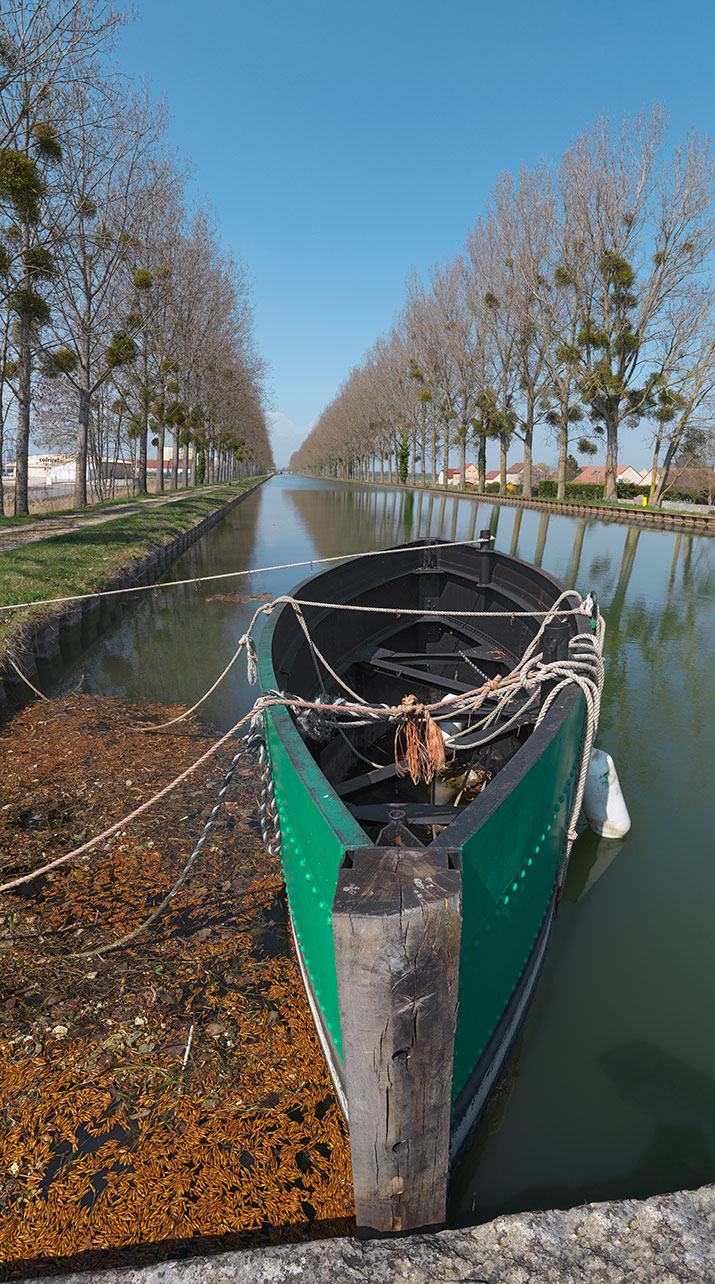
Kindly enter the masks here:
<path id="1" fill-rule="evenodd" d="M 569 149 L 561 187 L 578 227 L 574 297 L 578 377 L 606 433 L 606 498 L 616 497 L 621 424 L 653 410 L 664 370 L 657 338 L 712 249 L 714 167 L 691 136 L 666 154 L 660 108 L 607 117 Z"/>

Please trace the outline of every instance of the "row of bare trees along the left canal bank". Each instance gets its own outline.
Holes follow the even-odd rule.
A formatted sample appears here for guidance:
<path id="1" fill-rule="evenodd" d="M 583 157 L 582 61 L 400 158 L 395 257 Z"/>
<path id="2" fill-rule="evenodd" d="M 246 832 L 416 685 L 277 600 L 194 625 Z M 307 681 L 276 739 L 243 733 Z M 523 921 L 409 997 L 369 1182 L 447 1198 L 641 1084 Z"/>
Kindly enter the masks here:
<path id="1" fill-rule="evenodd" d="M 0 5 L 0 464 L 15 512 L 31 438 L 103 494 L 117 461 L 146 490 L 272 466 L 243 263 L 166 140 L 166 110 L 108 63 L 109 0 Z M 0 512 L 3 511 L 0 470 Z"/>

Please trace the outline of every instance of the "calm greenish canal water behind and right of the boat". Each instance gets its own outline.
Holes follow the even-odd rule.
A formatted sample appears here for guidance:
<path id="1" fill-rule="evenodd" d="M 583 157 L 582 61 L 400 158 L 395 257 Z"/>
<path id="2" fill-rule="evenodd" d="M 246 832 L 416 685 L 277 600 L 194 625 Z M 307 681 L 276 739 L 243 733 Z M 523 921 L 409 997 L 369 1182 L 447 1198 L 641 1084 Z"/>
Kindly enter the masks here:
<path id="1" fill-rule="evenodd" d="M 510 1073 L 462 1166 L 452 1221 L 644 1197 L 715 1180 L 714 544 L 706 537 L 279 476 L 261 487 L 77 663 L 85 686 L 193 704 L 259 605 L 309 568 L 241 568 L 474 538 L 594 589 L 607 621 L 597 743 L 633 828 L 576 842 L 552 945 Z M 228 600 L 227 600 L 228 598 Z M 243 663 L 204 706 L 226 729 L 253 704 Z M 171 764 L 167 764 L 171 767 Z"/>

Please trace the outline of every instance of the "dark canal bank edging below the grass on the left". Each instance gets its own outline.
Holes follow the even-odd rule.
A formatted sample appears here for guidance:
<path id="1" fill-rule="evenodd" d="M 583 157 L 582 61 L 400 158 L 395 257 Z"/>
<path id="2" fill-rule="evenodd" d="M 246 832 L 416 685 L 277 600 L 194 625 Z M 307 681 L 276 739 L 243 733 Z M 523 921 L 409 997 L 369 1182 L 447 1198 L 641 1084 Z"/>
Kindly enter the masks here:
<path id="1" fill-rule="evenodd" d="M 99 633 L 116 623 L 122 610 L 134 606 L 140 596 L 100 594 L 157 583 L 181 553 L 203 539 L 239 503 L 263 485 L 264 480 L 266 478 L 262 478 L 261 482 L 241 490 L 173 539 L 157 544 L 142 557 L 134 559 L 103 586 L 98 596 L 85 597 L 81 602 L 68 602 L 67 607 L 55 612 L 51 619 L 24 629 L 18 638 L 18 655 L 15 655 L 15 665 L 23 677 L 10 664 L 0 664 L 0 725 L 10 713 L 31 697 L 31 688 L 23 678 L 37 684 L 44 673 L 56 674 L 63 664 L 69 663 L 83 647 L 94 642 Z"/>

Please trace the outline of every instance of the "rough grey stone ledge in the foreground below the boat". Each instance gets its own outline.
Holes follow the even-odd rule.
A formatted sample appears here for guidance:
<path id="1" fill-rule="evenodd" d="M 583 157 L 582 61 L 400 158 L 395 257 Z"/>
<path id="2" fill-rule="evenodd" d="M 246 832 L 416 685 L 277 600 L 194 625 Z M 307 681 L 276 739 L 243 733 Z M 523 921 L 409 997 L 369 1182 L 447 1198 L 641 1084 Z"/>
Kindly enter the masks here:
<path id="1" fill-rule="evenodd" d="M 709 1284 L 715 1186 L 497 1217 L 392 1240 L 322 1239 L 45 1284 Z M 23 1281 L 30 1284 L 30 1281 Z"/>

